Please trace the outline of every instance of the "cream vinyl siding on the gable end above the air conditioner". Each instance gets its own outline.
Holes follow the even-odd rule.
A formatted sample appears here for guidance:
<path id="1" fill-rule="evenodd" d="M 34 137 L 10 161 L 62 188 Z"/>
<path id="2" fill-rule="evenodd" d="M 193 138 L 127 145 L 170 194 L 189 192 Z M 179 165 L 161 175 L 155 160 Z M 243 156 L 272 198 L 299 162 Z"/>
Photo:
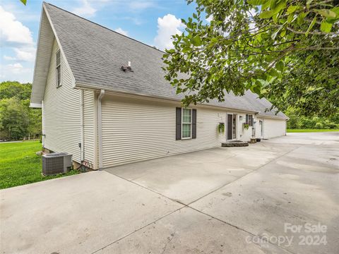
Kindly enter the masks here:
<path id="1" fill-rule="evenodd" d="M 57 88 L 57 52 L 54 40 L 44 92 L 44 147 L 54 152 L 69 152 L 80 162 L 81 92 L 73 89 L 71 71 L 61 55 L 62 86 Z"/>

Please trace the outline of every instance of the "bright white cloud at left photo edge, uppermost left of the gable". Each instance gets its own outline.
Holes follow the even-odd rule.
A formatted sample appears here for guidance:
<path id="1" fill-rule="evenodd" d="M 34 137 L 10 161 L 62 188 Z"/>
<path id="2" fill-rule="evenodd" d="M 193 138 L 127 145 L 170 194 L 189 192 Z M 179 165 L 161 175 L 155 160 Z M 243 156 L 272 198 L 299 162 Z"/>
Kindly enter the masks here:
<path id="1" fill-rule="evenodd" d="M 0 6 L 0 34 L 1 42 L 14 42 L 17 44 L 33 44 L 32 32 L 13 13 L 5 11 Z"/>

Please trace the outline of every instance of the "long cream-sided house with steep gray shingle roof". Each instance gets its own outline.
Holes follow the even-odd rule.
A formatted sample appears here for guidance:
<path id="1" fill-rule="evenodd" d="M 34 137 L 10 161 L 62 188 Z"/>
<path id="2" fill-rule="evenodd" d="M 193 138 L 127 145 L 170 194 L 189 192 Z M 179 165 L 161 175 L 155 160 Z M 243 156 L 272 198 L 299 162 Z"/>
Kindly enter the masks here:
<path id="1" fill-rule="evenodd" d="M 30 107 L 42 108 L 45 150 L 100 169 L 285 135 L 285 114 L 266 111 L 270 102 L 251 92 L 185 109 L 164 78 L 162 54 L 44 3 Z"/>

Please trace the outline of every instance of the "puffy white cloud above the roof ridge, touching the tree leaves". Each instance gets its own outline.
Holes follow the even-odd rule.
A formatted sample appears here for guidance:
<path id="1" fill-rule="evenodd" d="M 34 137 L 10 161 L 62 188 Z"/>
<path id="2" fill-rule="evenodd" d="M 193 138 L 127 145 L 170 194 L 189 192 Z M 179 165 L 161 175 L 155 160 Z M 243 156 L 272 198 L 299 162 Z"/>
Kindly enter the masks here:
<path id="1" fill-rule="evenodd" d="M 171 49 L 172 35 L 179 34 L 181 28 L 184 28 L 182 20 L 172 14 L 167 14 L 163 18 L 157 18 L 157 35 L 154 38 L 155 46 L 159 49 Z"/>

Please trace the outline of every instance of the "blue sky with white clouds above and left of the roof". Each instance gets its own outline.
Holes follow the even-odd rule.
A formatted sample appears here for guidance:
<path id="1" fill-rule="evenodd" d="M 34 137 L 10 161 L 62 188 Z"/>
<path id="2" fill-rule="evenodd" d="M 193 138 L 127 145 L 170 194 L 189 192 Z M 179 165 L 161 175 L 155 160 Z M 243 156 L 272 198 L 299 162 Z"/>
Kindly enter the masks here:
<path id="1" fill-rule="evenodd" d="M 194 12 L 185 0 L 49 0 L 67 11 L 159 49 Z M 0 82 L 32 82 L 42 1 L 0 0 Z"/>

